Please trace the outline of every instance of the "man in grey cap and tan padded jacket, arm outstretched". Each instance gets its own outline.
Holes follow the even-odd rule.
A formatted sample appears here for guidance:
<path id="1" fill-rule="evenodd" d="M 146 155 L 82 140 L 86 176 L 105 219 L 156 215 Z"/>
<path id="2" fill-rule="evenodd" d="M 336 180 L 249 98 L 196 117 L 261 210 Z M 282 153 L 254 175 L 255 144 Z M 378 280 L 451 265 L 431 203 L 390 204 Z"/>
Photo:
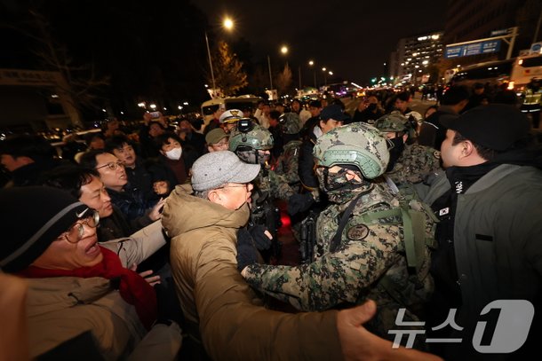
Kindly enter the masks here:
<path id="1" fill-rule="evenodd" d="M 190 359 L 438 359 L 392 349 L 390 341 L 367 332 L 361 325 L 375 312 L 374 302 L 299 314 L 261 306 L 236 261 L 237 231 L 249 220 L 251 181 L 259 169 L 229 151 L 204 154 L 192 168 L 192 185 L 177 186 L 164 206 L 173 279 L 199 352 Z"/>

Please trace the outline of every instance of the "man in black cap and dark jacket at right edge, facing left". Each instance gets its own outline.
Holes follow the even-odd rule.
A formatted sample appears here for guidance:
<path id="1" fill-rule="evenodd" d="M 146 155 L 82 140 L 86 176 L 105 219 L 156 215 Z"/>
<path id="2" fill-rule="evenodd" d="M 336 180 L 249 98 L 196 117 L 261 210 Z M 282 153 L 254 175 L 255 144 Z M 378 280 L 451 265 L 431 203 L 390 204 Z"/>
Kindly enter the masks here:
<path id="1" fill-rule="evenodd" d="M 450 360 L 528 359 L 538 349 L 542 325 L 542 172 L 530 149 L 530 122 L 516 107 L 495 104 L 443 118 L 442 125 L 447 129 L 441 147 L 446 171 L 430 188 L 417 184 L 440 219 L 431 270 L 435 292 L 426 310 L 431 327 L 457 309 L 455 323 L 462 331 L 441 327 L 437 334 L 464 341 L 435 351 Z M 497 300 L 522 300 L 513 310 L 515 325 L 527 328 L 506 322 L 510 310 L 488 312 L 488 304 Z M 490 354 L 476 350 L 480 324 L 488 325 L 484 334 L 494 330 L 496 335 L 496 322 L 507 324 L 502 340 L 527 336 L 530 319 L 521 321 L 521 311 L 529 309 L 535 319 L 522 349 L 517 350 L 524 338 L 515 348 L 494 348 Z"/>

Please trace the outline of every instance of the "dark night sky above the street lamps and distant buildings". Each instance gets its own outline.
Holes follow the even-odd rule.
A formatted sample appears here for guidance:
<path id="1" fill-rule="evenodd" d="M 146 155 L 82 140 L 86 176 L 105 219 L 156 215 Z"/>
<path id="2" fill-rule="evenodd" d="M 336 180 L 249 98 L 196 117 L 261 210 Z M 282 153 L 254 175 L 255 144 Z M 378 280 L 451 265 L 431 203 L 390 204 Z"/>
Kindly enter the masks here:
<path id="1" fill-rule="evenodd" d="M 274 62 L 280 62 L 281 44 L 287 44 L 294 83 L 298 80 L 299 66 L 303 81 L 312 83 L 308 59 L 315 60 L 318 82 L 322 82 L 322 67 L 352 82 L 369 82 L 373 76 L 384 75 L 384 62 L 388 62 L 400 38 L 443 29 L 447 1 L 197 0 L 194 3 L 215 28 L 220 27 L 224 15 L 230 16 L 235 21 L 235 34 L 225 36 L 243 36 L 251 43 L 255 57 L 270 55 L 275 59 L 273 67 Z"/>

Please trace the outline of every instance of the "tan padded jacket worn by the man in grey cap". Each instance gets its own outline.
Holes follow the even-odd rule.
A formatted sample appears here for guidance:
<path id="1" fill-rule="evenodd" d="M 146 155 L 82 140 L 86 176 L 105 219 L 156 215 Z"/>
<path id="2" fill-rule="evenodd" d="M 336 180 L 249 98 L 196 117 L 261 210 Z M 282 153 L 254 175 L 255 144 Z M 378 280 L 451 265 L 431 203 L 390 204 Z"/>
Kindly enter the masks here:
<path id="1" fill-rule="evenodd" d="M 163 208 L 171 269 L 187 318 L 213 360 L 342 357 L 337 311 L 287 314 L 259 306 L 236 265 L 236 233 L 249 208 L 229 210 L 178 185 Z M 190 329 L 192 326 L 192 329 Z"/>

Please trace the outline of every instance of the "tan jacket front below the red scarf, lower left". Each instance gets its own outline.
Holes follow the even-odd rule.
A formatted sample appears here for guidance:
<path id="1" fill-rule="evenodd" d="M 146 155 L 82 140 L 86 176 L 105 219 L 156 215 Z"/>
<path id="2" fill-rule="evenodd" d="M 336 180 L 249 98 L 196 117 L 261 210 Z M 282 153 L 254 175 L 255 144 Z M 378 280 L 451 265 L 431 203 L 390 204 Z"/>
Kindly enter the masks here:
<path id="1" fill-rule="evenodd" d="M 104 359 L 122 359 L 147 332 L 135 308 L 123 300 L 108 279 L 57 277 L 27 281 L 31 358 L 92 331 Z"/>

